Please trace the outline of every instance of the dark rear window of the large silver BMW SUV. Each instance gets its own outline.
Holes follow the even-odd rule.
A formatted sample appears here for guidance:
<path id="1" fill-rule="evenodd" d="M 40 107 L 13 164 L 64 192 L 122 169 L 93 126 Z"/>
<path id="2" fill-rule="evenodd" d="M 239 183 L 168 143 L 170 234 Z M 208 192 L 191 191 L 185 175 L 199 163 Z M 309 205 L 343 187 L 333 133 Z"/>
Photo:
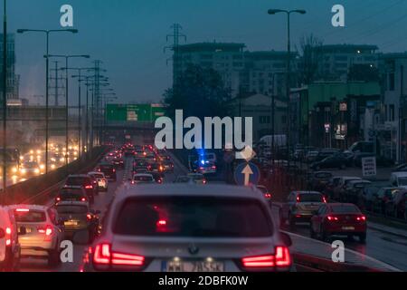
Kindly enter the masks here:
<path id="1" fill-rule="evenodd" d="M 147 237 L 270 237 L 267 211 L 251 198 L 156 197 L 128 199 L 113 232 Z"/>

